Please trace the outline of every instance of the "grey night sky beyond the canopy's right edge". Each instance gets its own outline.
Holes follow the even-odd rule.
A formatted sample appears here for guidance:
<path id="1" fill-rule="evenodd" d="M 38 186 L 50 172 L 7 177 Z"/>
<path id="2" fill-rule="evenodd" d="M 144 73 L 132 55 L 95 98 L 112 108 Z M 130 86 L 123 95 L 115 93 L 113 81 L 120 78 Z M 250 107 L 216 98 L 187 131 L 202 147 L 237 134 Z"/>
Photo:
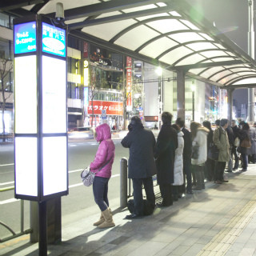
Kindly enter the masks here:
<path id="1" fill-rule="evenodd" d="M 248 0 L 186 0 L 194 6 L 226 37 L 247 53 L 248 41 Z M 254 2 L 254 10 L 256 2 Z M 255 30 L 255 22 L 254 22 Z M 247 90 L 234 90 L 234 100 L 240 108 L 247 103 Z"/>

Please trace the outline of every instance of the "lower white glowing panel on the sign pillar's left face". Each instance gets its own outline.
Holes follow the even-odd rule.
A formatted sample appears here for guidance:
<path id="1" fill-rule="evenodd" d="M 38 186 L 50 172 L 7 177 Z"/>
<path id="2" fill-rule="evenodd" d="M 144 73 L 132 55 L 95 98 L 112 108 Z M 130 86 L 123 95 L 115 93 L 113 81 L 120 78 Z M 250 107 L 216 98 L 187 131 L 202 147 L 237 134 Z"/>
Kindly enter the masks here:
<path id="1" fill-rule="evenodd" d="M 38 139 L 15 138 L 16 194 L 38 196 Z"/>

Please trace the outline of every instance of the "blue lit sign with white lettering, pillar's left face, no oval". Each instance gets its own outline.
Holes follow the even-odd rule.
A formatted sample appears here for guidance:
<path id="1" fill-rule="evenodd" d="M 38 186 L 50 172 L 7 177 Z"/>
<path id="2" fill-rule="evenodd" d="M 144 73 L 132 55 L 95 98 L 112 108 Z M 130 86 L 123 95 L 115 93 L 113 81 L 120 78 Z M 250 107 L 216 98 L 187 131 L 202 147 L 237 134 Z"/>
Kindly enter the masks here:
<path id="1" fill-rule="evenodd" d="M 36 51 L 36 34 L 36 22 L 14 25 L 14 54 Z"/>

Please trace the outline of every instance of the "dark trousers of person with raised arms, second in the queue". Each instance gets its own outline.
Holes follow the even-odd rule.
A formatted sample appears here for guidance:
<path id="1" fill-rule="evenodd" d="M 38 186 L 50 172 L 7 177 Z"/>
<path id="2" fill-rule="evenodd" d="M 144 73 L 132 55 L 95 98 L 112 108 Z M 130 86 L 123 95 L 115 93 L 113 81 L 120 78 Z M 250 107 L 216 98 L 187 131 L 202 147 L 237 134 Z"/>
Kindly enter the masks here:
<path id="1" fill-rule="evenodd" d="M 154 187 L 152 177 L 149 178 L 132 178 L 134 186 L 134 214 L 140 216 L 143 215 L 143 194 L 142 194 L 142 184 L 146 192 L 146 200 L 150 203 L 150 206 L 154 207 L 155 197 L 154 197 Z"/>

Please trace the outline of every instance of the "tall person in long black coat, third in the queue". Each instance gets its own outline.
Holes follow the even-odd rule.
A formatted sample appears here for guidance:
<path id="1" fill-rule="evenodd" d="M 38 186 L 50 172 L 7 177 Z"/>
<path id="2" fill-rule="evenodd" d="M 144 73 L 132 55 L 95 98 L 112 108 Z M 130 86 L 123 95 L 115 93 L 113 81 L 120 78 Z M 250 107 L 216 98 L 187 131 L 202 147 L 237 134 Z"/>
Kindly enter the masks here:
<path id="1" fill-rule="evenodd" d="M 158 134 L 157 144 L 154 150 L 156 158 L 158 184 L 162 196 L 159 206 L 171 206 L 173 204 L 171 184 L 174 183 L 174 159 L 175 150 L 178 147 L 178 135 L 171 127 L 172 114 L 162 113 L 162 127 Z"/>

